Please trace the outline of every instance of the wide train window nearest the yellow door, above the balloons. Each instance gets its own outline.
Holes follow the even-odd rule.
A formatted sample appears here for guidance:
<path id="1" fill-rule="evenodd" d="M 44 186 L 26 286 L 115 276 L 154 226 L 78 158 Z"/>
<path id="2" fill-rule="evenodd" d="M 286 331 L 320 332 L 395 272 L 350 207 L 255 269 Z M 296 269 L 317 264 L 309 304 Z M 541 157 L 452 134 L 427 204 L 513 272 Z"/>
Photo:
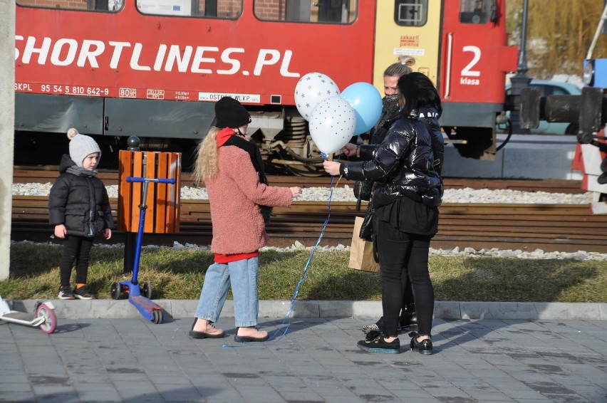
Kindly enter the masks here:
<path id="1" fill-rule="evenodd" d="M 352 23 L 358 0 L 255 0 L 253 10 L 261 21 Z"/>

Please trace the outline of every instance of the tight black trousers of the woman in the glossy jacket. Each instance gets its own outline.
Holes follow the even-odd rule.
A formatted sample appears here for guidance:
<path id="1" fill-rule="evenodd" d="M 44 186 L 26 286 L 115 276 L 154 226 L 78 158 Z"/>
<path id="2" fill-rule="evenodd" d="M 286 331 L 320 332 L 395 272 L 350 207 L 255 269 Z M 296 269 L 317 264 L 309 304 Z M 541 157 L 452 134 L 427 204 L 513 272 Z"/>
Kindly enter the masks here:
<path id="1" fill-rule="evenodd" d="M 420 335 L 430 335 L 434 313 L 434 288 L 428 272 L 430 236 L 408 234 L 377 220 L 376 242 L 381 273 L 383 333 L 398 337 L 398 317 L 403 306 L 403 276 L 413 288 Z"/>

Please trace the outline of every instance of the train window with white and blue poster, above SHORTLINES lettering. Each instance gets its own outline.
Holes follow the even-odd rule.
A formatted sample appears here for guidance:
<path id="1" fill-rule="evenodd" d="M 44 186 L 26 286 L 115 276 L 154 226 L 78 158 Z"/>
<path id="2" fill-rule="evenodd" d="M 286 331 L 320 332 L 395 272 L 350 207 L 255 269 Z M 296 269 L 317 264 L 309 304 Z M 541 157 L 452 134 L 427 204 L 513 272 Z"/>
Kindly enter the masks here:
<path id="1" fill-rule="evenodd" d="M 242 0 L 137 0 L 142 14 L 237 19 Z"/>

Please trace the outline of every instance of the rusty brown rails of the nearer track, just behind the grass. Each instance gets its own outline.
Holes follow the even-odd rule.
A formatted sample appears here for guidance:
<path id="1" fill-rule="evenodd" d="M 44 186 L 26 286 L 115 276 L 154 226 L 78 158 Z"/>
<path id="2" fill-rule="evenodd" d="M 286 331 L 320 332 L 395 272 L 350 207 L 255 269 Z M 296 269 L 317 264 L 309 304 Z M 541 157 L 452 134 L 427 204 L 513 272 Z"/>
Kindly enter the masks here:
<path id="1" fill-rule="evenodd" d="M 306 179 L 308 180 L 308 179 Z M 115 208 L 116 199 L 110 199 Z M 48 198 L 13 196 L 11 239 L 49 241 Z M 313 246 L 329 214 L 326 201 L 295 201 L 291 208 L 274 209 L 267 226 L 269 246 L 290 246 L 295 241 Z M 353 221 L 363 212 L 354 203 L 332 202 L 321 245 L 350 245 Z M 586 205 L 569 204 L 442 204 L 433 248 L 471 247 L 534 251 L 607 251 L 607 215 L 592 215 Z M 182 200 L 178 234 L 145 234 L 144 244 L 208 245 L 212 227 L 207 200 Z M 115 231 L 112 242 L 124 242 Z M 102 239 L 98 240 L 104 243 Z"/>

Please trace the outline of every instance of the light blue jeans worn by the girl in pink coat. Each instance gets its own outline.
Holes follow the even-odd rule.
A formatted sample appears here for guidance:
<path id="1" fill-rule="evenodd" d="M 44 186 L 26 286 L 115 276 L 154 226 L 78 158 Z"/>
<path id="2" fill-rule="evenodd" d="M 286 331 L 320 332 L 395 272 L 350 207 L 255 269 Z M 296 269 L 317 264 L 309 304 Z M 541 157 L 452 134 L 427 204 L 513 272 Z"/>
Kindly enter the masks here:
<path id="1" fill-rule="evenodd" d="M 204 276 L 194 316 L 212 323 L 217 322 L 224 308 L 227 292 L 232 287 L 236 327 L 256 326 L 259 312 L 258 276 L 259 256 L 227 264 L 213 263 Z"/>

